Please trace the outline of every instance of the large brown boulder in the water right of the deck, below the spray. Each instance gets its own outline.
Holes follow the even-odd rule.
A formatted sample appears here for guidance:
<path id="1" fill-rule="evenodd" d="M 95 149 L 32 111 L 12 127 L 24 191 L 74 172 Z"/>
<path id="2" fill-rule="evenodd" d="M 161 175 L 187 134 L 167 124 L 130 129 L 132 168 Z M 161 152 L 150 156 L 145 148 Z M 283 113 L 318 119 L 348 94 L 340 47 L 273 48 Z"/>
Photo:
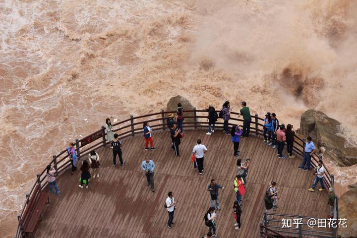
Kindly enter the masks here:
<path id="1" fill-rule="evenodd" d="M 357 148 L 349 145 L 340 136 L 341 123 L 327 117 L 324 113 L 307 110 L 301 115 L 299 133 L 304 137 L 311 136 L 315 145 L 326 149 L 325 156 L 335 160 L 340 166 L 357 164 Z"/>

